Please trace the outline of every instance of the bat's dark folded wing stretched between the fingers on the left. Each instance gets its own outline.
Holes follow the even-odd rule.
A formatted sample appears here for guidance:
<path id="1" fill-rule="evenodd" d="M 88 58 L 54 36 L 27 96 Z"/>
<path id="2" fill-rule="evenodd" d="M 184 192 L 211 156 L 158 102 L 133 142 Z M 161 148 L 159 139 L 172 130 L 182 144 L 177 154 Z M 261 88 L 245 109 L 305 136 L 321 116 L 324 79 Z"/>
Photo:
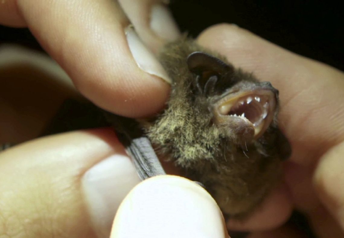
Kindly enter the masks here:
<path id="1" fill-rule="evenodd" d="M 66 100 L 42 135 L 100 126 L 115 128 L 141 179 L 165 174 L 149 139 L 143 136 L 135 120 L 111 114 L 90 102 Z"/>

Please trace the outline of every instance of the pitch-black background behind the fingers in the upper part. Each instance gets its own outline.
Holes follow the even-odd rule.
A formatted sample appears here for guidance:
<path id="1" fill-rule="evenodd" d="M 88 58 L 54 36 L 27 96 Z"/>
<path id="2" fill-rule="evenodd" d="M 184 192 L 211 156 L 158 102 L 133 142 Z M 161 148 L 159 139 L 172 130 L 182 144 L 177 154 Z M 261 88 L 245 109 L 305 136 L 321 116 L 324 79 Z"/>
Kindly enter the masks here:
<path id="1" fill-rule="evenodd" d="M 171 0 L 182 31 L 196 36 L 206 27 L 235 23 L 283 48 L 344 70 L 343 8 L 329 1 Z M 0 43 L 40 49 L 27 29 L 0 26 Z"/>

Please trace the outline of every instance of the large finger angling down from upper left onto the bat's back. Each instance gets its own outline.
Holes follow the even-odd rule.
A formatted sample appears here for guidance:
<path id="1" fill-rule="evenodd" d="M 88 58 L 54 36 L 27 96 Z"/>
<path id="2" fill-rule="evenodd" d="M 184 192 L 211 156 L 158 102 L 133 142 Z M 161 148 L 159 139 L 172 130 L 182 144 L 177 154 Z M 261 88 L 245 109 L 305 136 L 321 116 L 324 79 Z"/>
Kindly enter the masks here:
<path id="1" fill-rule="evenodd" d="M 163 107 L 169 78 L 136 33 L 125 34 L 129 21 L 116 1 L 6 2 L 17 6 L 10 10 L 18 9 L 43 48 L 95 104 L 131 117 Z"/>

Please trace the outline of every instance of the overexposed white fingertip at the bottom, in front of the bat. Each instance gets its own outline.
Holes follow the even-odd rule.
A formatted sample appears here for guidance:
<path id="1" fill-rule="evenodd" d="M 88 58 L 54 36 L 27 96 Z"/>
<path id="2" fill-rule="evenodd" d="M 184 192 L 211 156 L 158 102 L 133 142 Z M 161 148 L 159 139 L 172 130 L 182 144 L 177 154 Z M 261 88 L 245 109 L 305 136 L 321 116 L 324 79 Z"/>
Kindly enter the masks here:
<path id="1" fill-rule="evenodd" d="M 214 199 L 182 177 L 156 176 L 140 183 L 123 200 L 111 238 L 228 237 Z"/>

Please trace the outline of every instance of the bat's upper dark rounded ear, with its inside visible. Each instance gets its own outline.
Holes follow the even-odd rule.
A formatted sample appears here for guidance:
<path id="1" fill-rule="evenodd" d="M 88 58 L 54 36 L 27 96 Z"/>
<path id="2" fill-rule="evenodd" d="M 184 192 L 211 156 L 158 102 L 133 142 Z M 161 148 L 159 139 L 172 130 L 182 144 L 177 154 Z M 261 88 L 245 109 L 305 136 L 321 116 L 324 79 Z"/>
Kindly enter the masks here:
<path id="1" fill-rule="evenodd" d="M 187 66 L 192 73 L 197 75 L 193 82 L 194 87 L 204 95 L 214 92 L 219 77 L 234 71 L 232 65 L 228 65 L 210 54 L 198 51 L 187 56 Z"/>

